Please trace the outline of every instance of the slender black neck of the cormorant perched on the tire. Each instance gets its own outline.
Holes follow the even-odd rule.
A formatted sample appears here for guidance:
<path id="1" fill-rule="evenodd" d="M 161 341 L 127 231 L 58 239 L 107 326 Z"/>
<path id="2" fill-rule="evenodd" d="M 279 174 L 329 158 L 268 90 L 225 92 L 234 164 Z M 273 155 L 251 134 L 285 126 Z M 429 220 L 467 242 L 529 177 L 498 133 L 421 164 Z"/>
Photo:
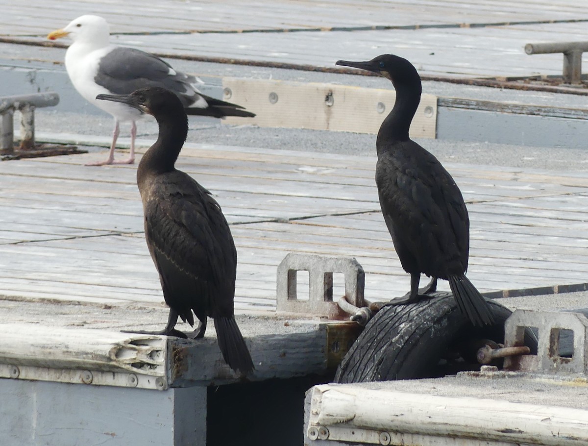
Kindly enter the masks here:
<path id="1" fill-rule="evenodd" d="M 396 102 L 377 133 L 377 150 L 389 147 L 396 141 L 407 141 L 412 118 L 419 106 L 422 85 L 420 78 L 405 79 L 402 82 L 392 81 L 396 89 Z"/>

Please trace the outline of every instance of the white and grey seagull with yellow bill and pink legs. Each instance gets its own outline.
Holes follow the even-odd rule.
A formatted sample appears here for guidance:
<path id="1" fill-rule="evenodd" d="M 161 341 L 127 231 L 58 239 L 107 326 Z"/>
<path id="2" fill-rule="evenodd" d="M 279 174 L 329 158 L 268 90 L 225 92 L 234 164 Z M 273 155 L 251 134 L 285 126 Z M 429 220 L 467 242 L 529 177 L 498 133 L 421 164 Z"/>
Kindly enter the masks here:
<path id="1" fill-rule="evenodd" d="M 111 114 L 115 119 L 108 158 L 86 165 L 133 164 L 135 162 L 135 121 L 145 113 L 120 102 L 97 101 L 99 94 L 131 94 L 138 88 L 160 86 L 178 95 L 186 114 L 215 118 L 225 116 L 254 117 L 242 106 L 203 95 L 193 85 L 195 76 L 176 71 L 167 62 L 148 52 L 109 43 L 108 22 L 97 15 L 82 15 L 65 28 L 49 33 L 55 40 L 68 36 L 73 43 L 65 53 L 65 69 L 75 89 L 87 101 Z M 115 161 L 114 150 L 121 122 L 131 122 L 131 154 Z"/>

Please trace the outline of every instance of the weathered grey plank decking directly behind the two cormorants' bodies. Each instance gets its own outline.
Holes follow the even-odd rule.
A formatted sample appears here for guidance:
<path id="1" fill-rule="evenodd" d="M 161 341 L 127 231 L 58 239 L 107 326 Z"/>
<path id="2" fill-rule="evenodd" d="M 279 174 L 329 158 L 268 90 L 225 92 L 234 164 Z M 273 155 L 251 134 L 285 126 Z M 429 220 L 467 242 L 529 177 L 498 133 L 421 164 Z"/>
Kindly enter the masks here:
<path id="1" fill-rule="evenodd" d="M 0 162 L 3 298 L 161 308 L 136 167 L 83 166 L 96 156 Z M 262 148 L 183 149 L 178 168 L 213 192 L 230 222 L 239 256 L 238 312 L 275 309 L 276 267 L 288 252 L 355 257 L 366 271 L 369 299 L 407 291 L 409 277 L 379 211 L 375 161 Z M 469 208 L 468 277 L 480 291 L 499 297 L 586 288 L 588 174 L 446 167 Z M 339 291 L 342 283 L 335 277 Z"/>

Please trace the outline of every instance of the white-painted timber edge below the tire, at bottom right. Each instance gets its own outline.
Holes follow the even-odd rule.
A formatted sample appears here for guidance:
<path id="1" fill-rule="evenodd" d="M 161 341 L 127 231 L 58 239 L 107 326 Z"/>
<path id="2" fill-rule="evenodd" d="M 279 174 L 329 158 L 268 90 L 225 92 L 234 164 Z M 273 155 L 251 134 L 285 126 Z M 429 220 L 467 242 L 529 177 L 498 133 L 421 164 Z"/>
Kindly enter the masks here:
<path id="1" fill-rule="evenodd" d="M 370 390 L 353 384 L 318 385 L 313 387 L 311 398 L 311 427 L 336 425 L 544 446 L 579 446 L 588 442 L 586 410 Z M 352 441 L 353 437 L 340 440 Z"/>

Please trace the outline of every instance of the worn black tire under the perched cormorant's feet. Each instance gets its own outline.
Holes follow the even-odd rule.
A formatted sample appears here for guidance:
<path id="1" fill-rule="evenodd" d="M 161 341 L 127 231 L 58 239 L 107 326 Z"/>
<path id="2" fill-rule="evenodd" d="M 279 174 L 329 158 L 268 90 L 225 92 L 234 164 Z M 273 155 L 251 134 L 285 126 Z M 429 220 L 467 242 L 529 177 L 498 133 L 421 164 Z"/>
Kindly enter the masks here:
<path id="1" fill-rule="evenodd" d="M 453 295 L 436 292 L 416 304 L 380 309 L 345 355 L 335 382 L 369 382 L 437 378 L 463 370 L 479 370 L 475 359 L 480 340 L 503 343 L 512 312 L 488 300 L 494 323 L 474 327 Z M 533 333 L 525 343 L 537 349 Z"/>

